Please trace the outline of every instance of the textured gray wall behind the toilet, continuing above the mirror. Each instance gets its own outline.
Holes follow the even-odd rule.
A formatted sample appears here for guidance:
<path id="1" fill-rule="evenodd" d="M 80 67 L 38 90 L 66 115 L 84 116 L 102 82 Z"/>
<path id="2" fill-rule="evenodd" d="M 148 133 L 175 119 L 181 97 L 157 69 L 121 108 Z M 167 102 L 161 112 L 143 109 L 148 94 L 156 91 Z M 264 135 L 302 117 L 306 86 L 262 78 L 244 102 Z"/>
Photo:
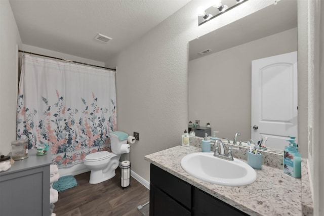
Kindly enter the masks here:
<path id="1" fill-rule="evenodd" d="M 139 176 L 149 181 L 144 156 L 180 145 L 187 127 L 188 42 L 272 4 L 249 0 L 198 26 L 196 9 L 213 1 L 193 0 L 106 62 L 117 65 L 117 129 L 140 134 L 132 145 L 132 170 Z"/>

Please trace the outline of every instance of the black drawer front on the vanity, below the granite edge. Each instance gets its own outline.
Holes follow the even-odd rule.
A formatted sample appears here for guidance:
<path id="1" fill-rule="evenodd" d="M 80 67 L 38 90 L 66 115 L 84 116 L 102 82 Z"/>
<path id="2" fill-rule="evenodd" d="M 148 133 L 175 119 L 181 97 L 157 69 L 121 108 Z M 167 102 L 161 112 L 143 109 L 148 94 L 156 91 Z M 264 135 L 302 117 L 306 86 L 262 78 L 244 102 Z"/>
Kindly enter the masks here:
<path id="1" fill-rule="evenodd" d="M 151 164 L 151 184 L 191 209 L 191 185 Z"/>

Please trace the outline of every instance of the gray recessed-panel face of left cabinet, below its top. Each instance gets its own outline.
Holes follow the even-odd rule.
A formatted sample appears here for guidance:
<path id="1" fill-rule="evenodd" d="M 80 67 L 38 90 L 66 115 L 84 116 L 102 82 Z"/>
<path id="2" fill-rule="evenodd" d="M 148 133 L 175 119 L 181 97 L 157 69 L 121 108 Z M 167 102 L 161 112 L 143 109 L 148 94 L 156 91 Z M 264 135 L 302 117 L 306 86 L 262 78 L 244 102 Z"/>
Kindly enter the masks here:
<path id="1" fill-rule="evenodd" d="M 1 176 L 0 215 L 50 215 L 50 166 Z"/>

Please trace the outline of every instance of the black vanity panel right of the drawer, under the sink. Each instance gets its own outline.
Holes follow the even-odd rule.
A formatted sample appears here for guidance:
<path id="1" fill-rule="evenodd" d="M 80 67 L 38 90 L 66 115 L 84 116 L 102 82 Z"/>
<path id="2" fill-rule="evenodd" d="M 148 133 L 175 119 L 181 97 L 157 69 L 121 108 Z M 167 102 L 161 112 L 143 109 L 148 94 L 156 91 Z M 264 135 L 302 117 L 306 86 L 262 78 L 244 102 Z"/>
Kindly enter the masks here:
<path id="1" fill-rule="evenodd" d="M 236 215 L 249 215 L 233 206 L 201 191 L 200 189 L 193 189 L 193 206 L 192 215 L 197 216 L 236 216 Z"/>

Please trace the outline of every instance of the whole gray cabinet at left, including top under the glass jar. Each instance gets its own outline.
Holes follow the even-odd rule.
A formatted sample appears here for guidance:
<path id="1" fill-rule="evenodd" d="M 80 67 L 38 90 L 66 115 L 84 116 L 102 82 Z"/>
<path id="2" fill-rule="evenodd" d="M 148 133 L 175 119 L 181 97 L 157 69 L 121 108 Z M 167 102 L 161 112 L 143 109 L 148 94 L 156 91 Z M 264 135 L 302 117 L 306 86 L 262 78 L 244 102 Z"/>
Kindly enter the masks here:
<path id="1" fill-rule="evenodd" d="M 0 215 L 50 215 L 51 154 L 17 160 L 7 171 L 0 172 Z"/>

